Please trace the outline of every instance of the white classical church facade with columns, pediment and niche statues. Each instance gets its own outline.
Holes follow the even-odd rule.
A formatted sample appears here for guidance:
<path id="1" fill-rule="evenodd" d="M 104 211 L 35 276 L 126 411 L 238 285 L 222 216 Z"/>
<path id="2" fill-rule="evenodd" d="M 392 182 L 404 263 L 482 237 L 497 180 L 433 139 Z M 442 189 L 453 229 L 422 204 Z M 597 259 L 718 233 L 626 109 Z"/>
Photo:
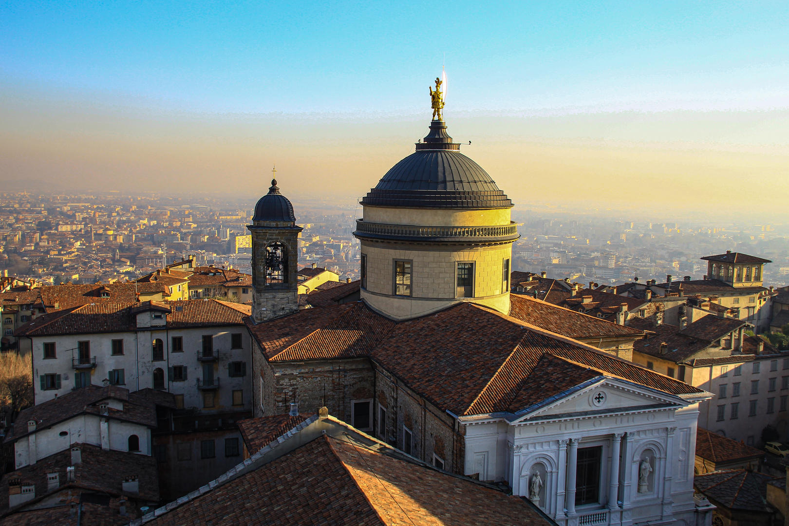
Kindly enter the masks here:
<path id="1" fill-rule="evenodd" d="M 514 415 L 461 417 L 466 473 L 506 480 L 566 526 L 705 524 L 693 470 L 709 396 L 598 377 Z"/>

